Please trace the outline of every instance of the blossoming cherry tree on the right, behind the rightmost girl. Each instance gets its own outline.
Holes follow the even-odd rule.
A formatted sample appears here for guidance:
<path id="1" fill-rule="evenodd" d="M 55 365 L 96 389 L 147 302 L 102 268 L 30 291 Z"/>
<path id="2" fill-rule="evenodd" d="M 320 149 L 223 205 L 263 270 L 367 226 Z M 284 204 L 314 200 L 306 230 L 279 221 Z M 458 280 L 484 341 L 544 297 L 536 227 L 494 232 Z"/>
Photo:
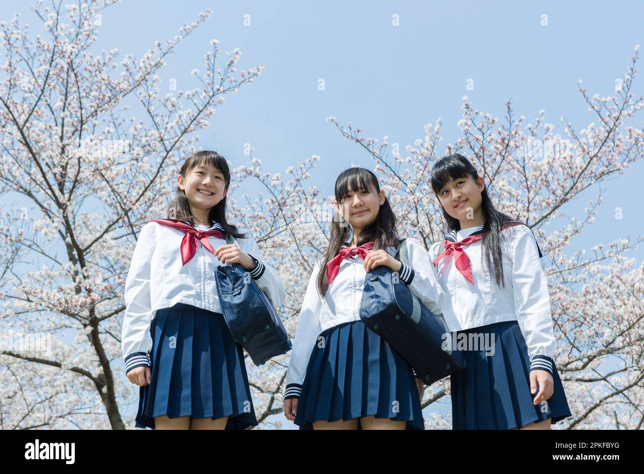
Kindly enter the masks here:
<path id="1" fill-rule="evenodd" d="M 498 209 L 533 229 L 545 255 L 542 262 L 558 341 L 555 361 L 573 413 L 561 424 L 568 429 L 644 426 L 644 263 L 626 255 L 643 237 L 625 235 L 607 244 L 598 242 L 590 256 L 585 249 L 569 251 L 571 239 L 594 222 L 601 188 L 583 215 L 570 216 L 566 224 L 558 220 L 567 217 L 569 202 L 594 184 L 620 175 L 643 156 L 642 130 L 630 124 L 644 107 L 644 99 L 631 92 L 638 51 L 639 45 L 625 76 L 616 81 L 614 95 L 589 97 L 579 81 L 579 92 L 597 123 L 578 132 L 565 121 L 564 135 L 554 133 L 543 110 L 534 123 L 525 124 L 526 118 L 517 119 L 509 101 L 499 121 L 475 110 L 463 97 L 459 139 L 440 152 L 438 119 L 425 126 L 424 141 L 417 139 L 406 147 L 408 156 L 403 158 L 397 144 L 390 147 L 388 137 L 379 143 L 363 137 L 350 123 L 343 126 L 335 117 L 328 119 L 374 159 L 375 172 L 395 203 L 401 230 L 426 248 L 446 233 L 431 190 L 431 167 L 453 152 L 468 156 L 477 166 Z M 616 219 L 621 219 L 621 209 L 615 211 Z M 632 222 L 633 230 L 638 229 L 638 221 Z M 449 403 L 449 379 L 426 391 L 423 406 L 439 400 Z M 429 426 L 450 425 L 435 416 Z"/>

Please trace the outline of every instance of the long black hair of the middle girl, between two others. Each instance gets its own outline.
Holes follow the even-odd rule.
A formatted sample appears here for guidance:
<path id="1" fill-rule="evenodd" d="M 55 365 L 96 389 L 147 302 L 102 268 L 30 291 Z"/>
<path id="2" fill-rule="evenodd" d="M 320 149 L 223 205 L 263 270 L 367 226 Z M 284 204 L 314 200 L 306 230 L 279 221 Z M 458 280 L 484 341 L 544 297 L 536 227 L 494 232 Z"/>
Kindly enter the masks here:
<path id="1" fill-rule="evenodd" d="M 341 203 L 349 191 L 358 192 L 361 189 L 379 194 L 380 184 L 377 177 L 366 168 L 348 168 L 336 179 L 336 201 Z M 327 294 L 328 290 L 327 263 L 337 255 L 349 237 L 352 237 L 348 225 L 340 226 L 341 219 L 342 217 L 338 213 L 334 213 L 327 253 L 317 275 L 317 289 L 322 296 Z M 386 196 L 383 204 L 380 205 L 375 221 L 360 233 L 357 245 L 361 246 L 370 241 L 374 241 L 374 250 L 397 247 L 401 242 L 396 230 L 396 217 L 393 215 L 392 206 Z"/>

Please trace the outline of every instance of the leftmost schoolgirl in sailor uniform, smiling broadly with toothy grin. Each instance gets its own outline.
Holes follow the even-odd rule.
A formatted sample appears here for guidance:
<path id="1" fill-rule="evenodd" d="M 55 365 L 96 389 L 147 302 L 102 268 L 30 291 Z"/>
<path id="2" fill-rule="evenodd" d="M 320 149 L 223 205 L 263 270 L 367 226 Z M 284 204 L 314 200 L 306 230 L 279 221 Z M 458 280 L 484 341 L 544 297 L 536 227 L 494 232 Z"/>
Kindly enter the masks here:
<path id="1" fill-rule="evenodd" d="M 240 264 L 276 307 L 286 293 L 252 235 L 226 220 L 224 157 L 194 153 L 177 182 L 172 218 L 142 227 L 126 279 L 122 352 L 140 386 L 136 426 L 251 428 L 258 422 L 243 348 L 223 319 L 214 270 Z M 239 246 L 226 244 L 226 233 Z"/>

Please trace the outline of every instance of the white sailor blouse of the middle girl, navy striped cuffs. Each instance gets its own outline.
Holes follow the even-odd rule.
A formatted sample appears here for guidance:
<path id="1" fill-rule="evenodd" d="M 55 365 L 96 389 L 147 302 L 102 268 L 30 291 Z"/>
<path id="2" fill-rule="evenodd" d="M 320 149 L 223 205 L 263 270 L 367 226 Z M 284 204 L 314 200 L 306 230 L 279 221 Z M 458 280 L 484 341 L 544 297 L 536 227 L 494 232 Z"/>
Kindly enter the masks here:
<path id="1" fill-rule="evenodd" d="M 401 262 L 400 281 L 409 286 L 428 310 L 433 313 L 442 312 L 446 296 L 427 250 L 418 239 L 408 237 L 405 242 L 409 265 Z M 395 248 L 388 247 L 386 250 L 390 255 L 395 255 Z M 366 276 L 364 262 L 359 255 L 343 259 L 337 276 L 328 286 L 323 298 L 317 291 L 320 262 L 316 262 L 299 312 L 298 328 L 285 378 L 284 399 L 299 398 L 308 359 L 318 343 L 318 335 L 338 324 L 360 321 L 360 302 Z"/>

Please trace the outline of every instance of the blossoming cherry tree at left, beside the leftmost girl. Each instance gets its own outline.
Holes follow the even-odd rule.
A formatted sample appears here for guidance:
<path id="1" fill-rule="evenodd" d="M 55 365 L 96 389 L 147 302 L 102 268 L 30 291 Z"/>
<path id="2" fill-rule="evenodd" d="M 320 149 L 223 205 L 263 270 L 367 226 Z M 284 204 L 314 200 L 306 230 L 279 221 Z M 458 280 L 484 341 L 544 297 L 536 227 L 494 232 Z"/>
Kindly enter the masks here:
<path id="1" fill-rule="evenodd" d="M 0 23 L 0 190 L 20 199 L 0 222 L 3 429 L 133 426 L 119 406 L 138 397 L 120 328 L 138 232 L 165 217 L 180 163 L 224 96 L 263 70 L 236 72 L 238 48 L 223 54 L 213 39 L 204 73 L 192 72 L 201 85 L 165 94 L 168 55 L 211 10 L 142 58 L 119 59 L 92 52 L 113 3 L 41 1 L 46 34 L 35 39 L 19 15 Z"/>

